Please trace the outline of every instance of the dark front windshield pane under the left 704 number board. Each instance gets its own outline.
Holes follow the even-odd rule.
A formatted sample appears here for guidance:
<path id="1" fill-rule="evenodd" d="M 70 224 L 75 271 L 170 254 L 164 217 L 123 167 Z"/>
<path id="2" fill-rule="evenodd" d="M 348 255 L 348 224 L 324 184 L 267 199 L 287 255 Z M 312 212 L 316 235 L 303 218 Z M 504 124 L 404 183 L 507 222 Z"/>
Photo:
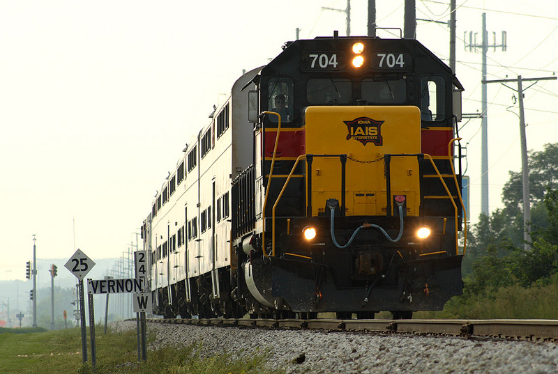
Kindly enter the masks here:
<path id="1" fill-rule="evenodd" d="M 349 104 L 352 83 L 349 79 L 308 79 L 306 100 L 315 105 Z"/>

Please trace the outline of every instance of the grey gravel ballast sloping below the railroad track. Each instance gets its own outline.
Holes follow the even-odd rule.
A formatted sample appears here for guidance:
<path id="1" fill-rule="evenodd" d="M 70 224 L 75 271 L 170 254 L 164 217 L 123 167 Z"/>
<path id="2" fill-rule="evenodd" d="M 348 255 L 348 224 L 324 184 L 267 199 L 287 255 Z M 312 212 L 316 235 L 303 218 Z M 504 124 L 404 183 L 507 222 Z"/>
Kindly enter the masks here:
<path id="1" fill-rule="evenodd" d="M 113 322 L 135 329 L 135 321 Z M 558 373 L 558 344 L 317 330 L 148 324 L 163 345 L 202 343 L 208 355 L 269 352 L 286 373 Z M 148 352 L 149 359 L 149 352 Z"/>

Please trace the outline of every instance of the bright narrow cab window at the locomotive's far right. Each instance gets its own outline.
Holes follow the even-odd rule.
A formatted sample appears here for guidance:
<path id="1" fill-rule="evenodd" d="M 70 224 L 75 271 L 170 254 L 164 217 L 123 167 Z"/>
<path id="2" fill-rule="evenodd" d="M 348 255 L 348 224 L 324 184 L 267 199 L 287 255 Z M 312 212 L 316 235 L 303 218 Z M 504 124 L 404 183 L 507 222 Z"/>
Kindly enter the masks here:
<path id="1" fill-rule="evenodd" d="M 444 77 L 430 75 L 421 79 L 421 120 L 446 118 L 446 91 Z"/>

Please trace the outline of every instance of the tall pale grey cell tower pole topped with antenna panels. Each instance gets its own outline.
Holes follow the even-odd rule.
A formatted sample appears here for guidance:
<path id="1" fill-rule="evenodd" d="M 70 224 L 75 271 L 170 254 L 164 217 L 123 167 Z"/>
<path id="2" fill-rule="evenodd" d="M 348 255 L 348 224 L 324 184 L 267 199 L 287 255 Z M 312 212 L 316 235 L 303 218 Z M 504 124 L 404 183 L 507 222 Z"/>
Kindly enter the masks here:
<path id="1" fill-rule="evenodd" d="M 481 48 L 483 54 L 483 72 L 482 72 L 482 81 L 486 79 L 486 54 L 488 52 L 488 47 L 494 48 L 496 51 L 497 47 L 502 47 L 502 51 L 506 51 L 507 49 L 507 40 L 506 40 L 506 31 L 502 31 L 502 44 L 496 45 L 496 33 L 494 34 L 494 43 L 492 45 L 488 45 L 488 33 L 486 31 L 486 13 L 483 13 L 483 38 L 482 43 L 479 45 L 476 42 L 476 33 L 474 33 L 474 41 L 473 41 L 473 32 L 469 31 L 469 45 L 465 42 L 465 50 L 469 47 L 469 52 L 472 49 Z M 463 40 L 467 40 L 467 31 L 465 31 L 465 35 L 463 36 Z M 482 86 L 482 113 L 481 113 L 481 212 L 483 215 L 488 216 L 490 211 L 488 209 L 488 105 L 487 105 L 487 92 L 486 92 L 486 84 L 483 83 Z"/>

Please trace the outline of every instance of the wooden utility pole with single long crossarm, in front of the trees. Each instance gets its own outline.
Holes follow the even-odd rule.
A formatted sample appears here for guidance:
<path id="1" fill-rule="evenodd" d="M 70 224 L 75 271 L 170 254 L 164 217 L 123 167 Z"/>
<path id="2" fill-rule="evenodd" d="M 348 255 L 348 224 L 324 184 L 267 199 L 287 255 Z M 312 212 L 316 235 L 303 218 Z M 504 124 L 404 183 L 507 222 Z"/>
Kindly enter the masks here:
<path id="1" fill-rule="evenodd" d="M 521 138 L 521 174 L 522 174 L 522 185 L 523 185 L 523 248 L 525 251 L 529 251 L 531 242 L 531 192 L 529 191 L 529 159 L 527 158 L 527 137 L 525 135 L 525 114 L 523 109 L 523 91 L 527 90 L 529 87 L 536 84 L 537 81 L 548 81 L 551 79 L 557 79 L 557 77 L 542 77 L 542 78 L 522 78 L 518 75 L 518 79 L 495 79 L 495 80 L 485 80 L 483 79 L 483 84 L 487 83 L 505 83 L 508 82 L 518 82 L 518 89 L 515 90 L 509 86 L 513 91 L 518 93 L 519 97 L 519 132 Z M 535 81 L 531 86 L 523 89 L 524 81 Z"/>

